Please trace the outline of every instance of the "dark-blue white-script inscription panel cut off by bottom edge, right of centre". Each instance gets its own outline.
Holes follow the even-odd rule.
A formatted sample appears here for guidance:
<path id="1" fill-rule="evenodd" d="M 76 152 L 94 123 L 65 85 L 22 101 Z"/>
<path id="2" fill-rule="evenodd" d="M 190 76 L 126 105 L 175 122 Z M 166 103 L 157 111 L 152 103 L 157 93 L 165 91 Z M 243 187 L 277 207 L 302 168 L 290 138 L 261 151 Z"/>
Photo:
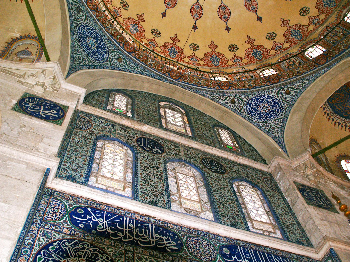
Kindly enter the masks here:
<path id="1" fill-rule="evenodd" d="M 241 262 L 294 262 L 288 257 L 274 255 L 252 248 L 240 247 L 237 245 L 222 245 L 219 248 L 219 255 L 223 261 L 241 261 Z"/>

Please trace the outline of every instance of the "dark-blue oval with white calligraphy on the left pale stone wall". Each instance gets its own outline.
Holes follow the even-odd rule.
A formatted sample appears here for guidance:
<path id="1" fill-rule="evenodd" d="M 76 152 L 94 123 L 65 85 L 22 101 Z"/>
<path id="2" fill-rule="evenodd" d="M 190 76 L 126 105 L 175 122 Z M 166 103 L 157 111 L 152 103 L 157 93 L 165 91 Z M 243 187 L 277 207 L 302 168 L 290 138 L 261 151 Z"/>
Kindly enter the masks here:
<path id="1" fill-rule="evenodd" d="M 18 101 L 18 106 L 28 115 L 43 120 L 56 121 L 65 116 L 65 111 L 60 105 L 41 97 L 23 97 Z"/>

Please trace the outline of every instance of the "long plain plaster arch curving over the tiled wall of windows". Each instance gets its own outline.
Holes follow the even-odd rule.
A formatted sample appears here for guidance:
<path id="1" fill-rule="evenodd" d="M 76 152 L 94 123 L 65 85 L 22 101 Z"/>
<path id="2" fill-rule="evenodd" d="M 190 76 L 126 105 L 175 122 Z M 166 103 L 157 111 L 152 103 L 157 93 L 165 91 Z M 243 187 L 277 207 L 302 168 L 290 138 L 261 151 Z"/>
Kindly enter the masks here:
<path id="1" fill-rule="evenodd" d="M 273 157 L 288 156 L 267 134 L 222 105 L 180 87 L 138 74 L 114 70 L 81 70 L 70 75 L 66 81 L 86 88 L 86 94 L 106 88 L 145 91 L 170 97 L 217 119 L 250 143 L 269 163 Z"/>

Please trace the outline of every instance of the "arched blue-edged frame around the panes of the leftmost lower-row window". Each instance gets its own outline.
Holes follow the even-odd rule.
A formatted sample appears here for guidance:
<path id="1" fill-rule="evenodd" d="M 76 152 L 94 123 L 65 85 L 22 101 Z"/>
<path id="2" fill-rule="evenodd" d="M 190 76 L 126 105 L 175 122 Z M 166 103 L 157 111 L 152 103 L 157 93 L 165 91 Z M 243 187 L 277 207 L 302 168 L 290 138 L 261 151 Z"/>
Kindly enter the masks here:
<path id="1" fill-rule="evenodd" d="M 132 194 L 131 194 L 131 197 L 89 184 L 91 171 L 92 171 L 92 165 L 93 165 L 94 158 L 95 158 L 96 146 L 97 146 L 97 142 L 99 140 L 117 141 L 118 143 L 122 144 L 123 146 L 126 146 L 132 152 L 132 182 L 131 182 L 132 183 Z M 101 157 L 102 157 L 102 155 L 101 155 Z M 139 182 L 139 168 L 138 168 L 139 155 L 138 155 L 137 150 L 135 150 L 135 148 L 133 146 L 131 146 L 131 145 L 125 143 L 124 141 L 122 141 L 118 138 L 115 138 L 115 137 L 97 136 L 92 141 L 92 148 L 90 150 L 89 158 L 87 161 L 88 162 L 87 162 L 87 167 L 86 167 L 86 171 L 85 171 L 85 174 L 88 174 L 88 179 L 87 179 L 87 182 L 85 184 L 87 187 L 91 187 L 91 188 L 94 188 L 94 189 L 97 189 L 100 191 L 104 191 L 104 192 L 107 192 L 110 194 L 130 198 L 133 200 L 138 200 L 139 196 L 138 196 L 137 190 L 135 190 L 135 187 L 136 187 L 136 185 L 138 185 L 138 182 Z"/>

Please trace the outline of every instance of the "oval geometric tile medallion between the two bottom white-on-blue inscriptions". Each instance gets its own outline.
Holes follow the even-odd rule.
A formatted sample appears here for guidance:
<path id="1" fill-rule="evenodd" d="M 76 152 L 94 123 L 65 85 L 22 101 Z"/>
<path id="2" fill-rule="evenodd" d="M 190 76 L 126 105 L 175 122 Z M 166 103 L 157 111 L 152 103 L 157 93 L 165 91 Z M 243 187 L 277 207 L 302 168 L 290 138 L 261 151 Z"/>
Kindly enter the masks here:
<path id="1" fill-rule="evenodd" d="M 186 248 L 193 257 L 200 261 L 214 261 L 217 256 L 212 243 L 198 236 L 190 236 L 186 241 Z"/>

